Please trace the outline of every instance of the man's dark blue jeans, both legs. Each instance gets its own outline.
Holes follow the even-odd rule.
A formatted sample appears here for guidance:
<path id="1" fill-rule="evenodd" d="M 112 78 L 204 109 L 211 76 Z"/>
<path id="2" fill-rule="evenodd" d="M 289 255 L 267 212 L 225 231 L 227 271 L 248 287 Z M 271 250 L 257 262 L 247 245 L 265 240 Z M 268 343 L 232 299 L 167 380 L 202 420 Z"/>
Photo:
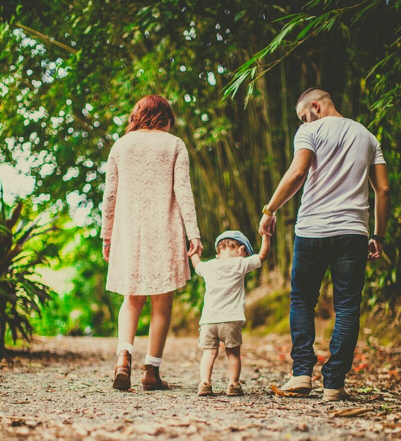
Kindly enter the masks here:
<path id="1" fill-rule="evenodd" d="M 328 238 L 295 237 L 291 275 L 290 327 L 293 375 L 312 375 L 317 357 L 314 309 L 330 266 L 335 324 L 330 358 L 322 367 L 324 387 L 339 389 L 352 366 L 359 333 L 359 310 L 365 283 L 368 239 L 359 234 Z"/>

